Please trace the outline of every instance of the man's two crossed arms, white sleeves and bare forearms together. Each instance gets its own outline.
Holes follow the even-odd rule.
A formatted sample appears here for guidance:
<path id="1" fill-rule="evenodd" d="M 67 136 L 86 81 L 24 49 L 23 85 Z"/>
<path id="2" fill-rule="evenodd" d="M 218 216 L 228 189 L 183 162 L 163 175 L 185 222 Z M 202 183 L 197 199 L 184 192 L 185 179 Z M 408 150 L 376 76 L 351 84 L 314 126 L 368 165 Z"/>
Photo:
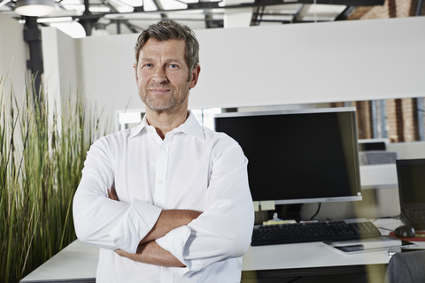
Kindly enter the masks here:
<path id="1" fill-rule="evenodd" d="M 118 255 L 138 262 L 186 266 L 185 273 L 243 256 L 251 242 L 254 215 L 242 149 L 234 143 L 217 149 L 220 155 L 213 157 L 201 214 L 161 210 L 137 198 L 128 197 L 127 202 L 108 198 L 104 187 L 112 187 L 115 180 L 104 152 L 110 145 L 102 148 L 101 142 L 105 140 L 90 148 L 73 199 L 75 232 L 81 241 L 121 249 Z"/>

